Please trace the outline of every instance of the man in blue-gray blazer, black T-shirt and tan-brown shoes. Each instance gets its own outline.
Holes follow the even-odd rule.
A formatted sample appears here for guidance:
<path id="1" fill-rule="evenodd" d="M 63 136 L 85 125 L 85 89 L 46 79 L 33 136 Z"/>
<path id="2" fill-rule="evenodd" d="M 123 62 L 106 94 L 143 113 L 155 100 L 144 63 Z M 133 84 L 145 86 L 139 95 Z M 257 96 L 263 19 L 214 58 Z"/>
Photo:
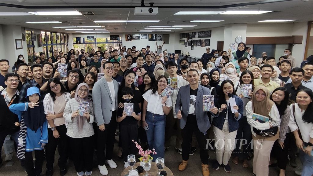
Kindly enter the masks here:
<path id="1" fill-rule="evenodd" d="M 182 86 L 177 94 L 175 112 L 180 120 L 182 129 L 182 163 L 178 170 L 183 171 L 189 159 L 189 147 L 194 132 L 200 148 L 200 158 L 202 162 L 203 176 L 209 176 L 208 150 L 206 147 L 207 130 L 211 126 L 208 112 L 203 111 L 203 95 L 211 95 L 210 90 L 199 85 L 199 73 L 195 69 L 187 71 L 187 81 L 189 85 Z M 210 114 L 217 114 L 216 107 L 210 109 Z"/>

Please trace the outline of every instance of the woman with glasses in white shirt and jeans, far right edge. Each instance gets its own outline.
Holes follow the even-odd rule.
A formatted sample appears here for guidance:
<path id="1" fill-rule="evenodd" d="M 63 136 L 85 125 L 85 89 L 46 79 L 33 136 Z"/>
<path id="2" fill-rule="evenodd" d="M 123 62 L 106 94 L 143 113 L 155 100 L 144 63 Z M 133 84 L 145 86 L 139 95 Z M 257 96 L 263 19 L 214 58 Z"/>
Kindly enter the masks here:
<path id="1" fill-rule="evenodd" d="M 295 104 L 290 105 L 291 116 L 289 128 L 293 132 L 296 145 L 300 149 L 300 161 L 302 163 L 301 176 L 313 174 L 313 92 L 303 89 L 296 95 Z"/>

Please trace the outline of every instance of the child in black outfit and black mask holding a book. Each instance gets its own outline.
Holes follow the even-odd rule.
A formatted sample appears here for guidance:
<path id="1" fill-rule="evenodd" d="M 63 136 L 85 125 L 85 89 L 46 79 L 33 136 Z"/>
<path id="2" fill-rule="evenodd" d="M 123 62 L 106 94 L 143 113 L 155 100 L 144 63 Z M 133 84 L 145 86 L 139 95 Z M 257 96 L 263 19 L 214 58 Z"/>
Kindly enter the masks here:
<path id="1" fill-rule="evenodd" d="M 117 122 L 120 123 L 120 134 L 123 148 L 123 159 L 124 159 L 124 168 L 127 168 L 129 165 L 127 163 L 127 156 L 129 154 L 135 155 L 137 152 L 136 145 L 131 140 L 137 141 L 138 138 L 138 125 L 137 122 L 141 120 L 141 110 L 138 106 L 138 103 L 134 103 L 132 98 L 134 97 L 134 91 L 132 88 L 123 87 L 121 90 L 122 101 L 124 103 L 133 104 L 133 112 L 131 116 L 126 114 L 123 108 L 118 108 L 117 110 Z"/>

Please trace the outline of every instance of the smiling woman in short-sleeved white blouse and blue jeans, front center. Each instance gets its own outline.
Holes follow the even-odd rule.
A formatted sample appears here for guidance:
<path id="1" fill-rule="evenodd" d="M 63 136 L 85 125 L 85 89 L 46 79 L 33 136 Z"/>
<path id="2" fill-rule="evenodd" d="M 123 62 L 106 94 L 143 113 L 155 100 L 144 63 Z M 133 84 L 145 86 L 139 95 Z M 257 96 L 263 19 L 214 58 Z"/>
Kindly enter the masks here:
<path id="1" fill-rule="evenodd" d="M 171 98 L 161 95 L 167 85 L 168 79 L 161 75 L 156 79 L 153 89 L 143 95 L 142 127 L 145 129 L 148 127 L 146 130 L 148 144 L 150 150 L 154 148 L 156 151 L 152 161 L 158 157 L 164 158 L 165 115 L 172 109 Z"/>

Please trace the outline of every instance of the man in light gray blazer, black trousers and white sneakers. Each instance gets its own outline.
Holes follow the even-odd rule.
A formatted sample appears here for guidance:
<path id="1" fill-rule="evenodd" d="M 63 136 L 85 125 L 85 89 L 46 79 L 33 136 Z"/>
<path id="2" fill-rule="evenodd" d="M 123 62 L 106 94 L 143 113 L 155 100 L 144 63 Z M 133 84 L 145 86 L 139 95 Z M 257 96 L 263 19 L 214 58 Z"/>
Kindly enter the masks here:
<path id="1" fill-rule="evenodd" d="M 95 112 L 95 120 L 98 128 L 97 157 L 98 168 L 102 175 L 107 175 L 108 170 L 105 163 L 110 168 L 116 168 L 116 163 L 112 160 L 114 135 L 117 118 L 117 93 L 118 83 L 112 79 L 114 65 L 107 61 L 103 64 L 104 77 L 97 81 L 92 89 L 92 99 Z M 105 156 L 106 151 L 106 156 Z"/>

